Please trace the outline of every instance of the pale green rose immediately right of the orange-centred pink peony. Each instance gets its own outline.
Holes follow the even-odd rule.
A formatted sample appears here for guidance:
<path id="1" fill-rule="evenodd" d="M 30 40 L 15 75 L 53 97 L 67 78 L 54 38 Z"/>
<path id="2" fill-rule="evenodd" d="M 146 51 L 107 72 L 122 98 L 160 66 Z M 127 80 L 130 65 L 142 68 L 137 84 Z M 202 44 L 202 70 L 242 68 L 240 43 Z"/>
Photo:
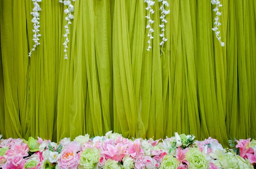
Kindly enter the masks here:
<path id="1" fill-rule="evenodd" d="M 80 154 L 80 168 L 92 169 L 94 164 L 99 161 L 99 151 L 98 149 L 86 148 Z"/>

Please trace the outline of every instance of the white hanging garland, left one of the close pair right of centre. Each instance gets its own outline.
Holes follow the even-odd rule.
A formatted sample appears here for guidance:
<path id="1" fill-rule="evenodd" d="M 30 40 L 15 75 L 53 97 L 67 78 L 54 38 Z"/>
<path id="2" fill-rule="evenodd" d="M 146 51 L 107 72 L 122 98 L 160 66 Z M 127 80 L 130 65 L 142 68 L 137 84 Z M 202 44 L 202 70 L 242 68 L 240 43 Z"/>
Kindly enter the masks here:
<path id="1" fill-rule="evenodd" d="M 153 0 L 145 0 L 144 2 L 148 3 L 148 7 L 146 7 L 146 10 L 149 11 L 149 14 L 145 17 L 148 19 L 148 25 L 146 26 L 146 28 L 149 29 L 149 32 L 148 32 L 149 39 L 148 39 L 147 51 L 150 51 L 150 49 L 151 49 L 151 45 L 150 45 L 151 44 L 151 39 L 154 38 L 152 36 L 152 33 L 154 32 L 154 29 L 151 28 L 151 24 L 154 23 L 154 20 L 151 20 L 150 15 L 154 14 L 154 10 L 151 8 L 151 6 L 153 6 L 155 2 Z"/>

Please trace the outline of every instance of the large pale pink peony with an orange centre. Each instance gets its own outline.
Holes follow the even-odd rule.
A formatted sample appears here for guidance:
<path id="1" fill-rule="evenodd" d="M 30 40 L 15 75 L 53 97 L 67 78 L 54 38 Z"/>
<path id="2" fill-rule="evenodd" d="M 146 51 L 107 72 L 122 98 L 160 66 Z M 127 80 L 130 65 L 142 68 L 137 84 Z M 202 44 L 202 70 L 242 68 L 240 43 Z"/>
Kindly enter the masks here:
<path id="1" fill-rule="evenodd" d="M 79 164 L 80 144 L 76 141 L 70 142 L 65 149 L 61 151 L 61 158 L 58 160 L 58 166 L 61 169 L 76 169 Z"/>

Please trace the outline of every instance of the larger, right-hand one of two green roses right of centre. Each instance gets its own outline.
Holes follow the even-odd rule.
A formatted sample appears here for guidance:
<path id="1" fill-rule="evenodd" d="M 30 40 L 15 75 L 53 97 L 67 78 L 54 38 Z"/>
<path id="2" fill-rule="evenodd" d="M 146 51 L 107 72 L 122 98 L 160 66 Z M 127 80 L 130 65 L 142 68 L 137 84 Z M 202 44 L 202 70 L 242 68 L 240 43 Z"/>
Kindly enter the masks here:
<path id="1" fill-rule="evenodd" d="M 186 160 L 189 162 L 189 169 L 207 169 L 209 166 L 205 155 L 195 147 L 188 150 Z"/>

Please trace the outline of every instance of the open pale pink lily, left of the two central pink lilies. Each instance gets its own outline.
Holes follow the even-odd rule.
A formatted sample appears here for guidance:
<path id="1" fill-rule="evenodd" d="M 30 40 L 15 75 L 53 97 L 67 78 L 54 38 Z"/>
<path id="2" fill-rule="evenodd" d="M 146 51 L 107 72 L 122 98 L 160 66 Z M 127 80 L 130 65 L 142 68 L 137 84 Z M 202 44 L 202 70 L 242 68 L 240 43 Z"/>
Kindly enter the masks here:
<path id="1" fill-rule="evenodd" d="M 122 143 L 118 143 L 116 146 L 108 144 L 107 150 L 103 151 L 102 154 L 110 156 L 113 160 L 122 161 L 122 158 L 128 155 L 127 146 L 128 144 L 123 145 Z"/>

